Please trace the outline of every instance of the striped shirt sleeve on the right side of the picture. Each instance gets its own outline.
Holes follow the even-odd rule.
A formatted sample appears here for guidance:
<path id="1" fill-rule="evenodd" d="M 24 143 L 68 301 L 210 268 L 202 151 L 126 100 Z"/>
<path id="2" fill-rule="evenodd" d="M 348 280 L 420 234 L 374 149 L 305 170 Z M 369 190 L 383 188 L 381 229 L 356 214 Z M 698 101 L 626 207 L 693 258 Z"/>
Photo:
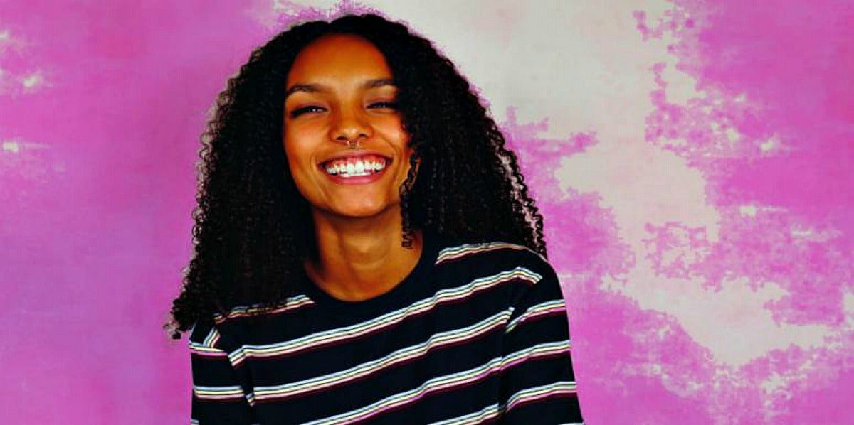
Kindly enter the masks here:
<path id="1" fill-rule="evenodd" d="M 566 304 L 554 270 L 539 262 L 531 271 L 541 278 L 513 303 L 505 329 L 500 422 L 582 423 Z"/>

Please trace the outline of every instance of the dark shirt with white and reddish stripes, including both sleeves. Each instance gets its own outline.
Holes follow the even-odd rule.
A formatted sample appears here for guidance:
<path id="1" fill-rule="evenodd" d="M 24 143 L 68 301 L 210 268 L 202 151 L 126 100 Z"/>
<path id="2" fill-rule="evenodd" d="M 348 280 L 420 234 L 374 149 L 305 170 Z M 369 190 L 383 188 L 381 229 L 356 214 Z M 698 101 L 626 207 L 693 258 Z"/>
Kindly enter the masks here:
<path id="1" fill-rule="evenodd" d="M 386 294 L 298 282 L 253 312 L 191 332 L 193 423 L 582 422 L 559 282 L 526 247 L 425 233 Z"/>

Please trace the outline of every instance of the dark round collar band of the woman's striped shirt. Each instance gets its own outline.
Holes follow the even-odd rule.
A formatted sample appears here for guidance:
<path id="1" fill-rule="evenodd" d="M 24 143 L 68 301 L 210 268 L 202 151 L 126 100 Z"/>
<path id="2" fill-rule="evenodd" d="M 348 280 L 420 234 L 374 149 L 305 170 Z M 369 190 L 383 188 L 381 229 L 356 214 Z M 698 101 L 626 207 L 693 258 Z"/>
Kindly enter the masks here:
<path id="1" fill-rule="evenodd" d="M 422 230 L 422 248 L 418 263 L 412 268 L 407 277 L 391 288 L 385 294 L 377 295 L 368 300 L 348 301 L 338 300 L 319 288 L 311 279 L 304 277 L 300 286 L 307 297 L 317 306 L 334 311 L 337 314 L 352 317 L 374 315 L 383 311 L 392 311 L 402 307 L 403 302 L 412 300 L 412 294 L 418 290 L 419 282 L 424 282 L 439 254 L 438 236 L 429 230 Z M 403 302 L 401 302 L 403 301 Z"/>

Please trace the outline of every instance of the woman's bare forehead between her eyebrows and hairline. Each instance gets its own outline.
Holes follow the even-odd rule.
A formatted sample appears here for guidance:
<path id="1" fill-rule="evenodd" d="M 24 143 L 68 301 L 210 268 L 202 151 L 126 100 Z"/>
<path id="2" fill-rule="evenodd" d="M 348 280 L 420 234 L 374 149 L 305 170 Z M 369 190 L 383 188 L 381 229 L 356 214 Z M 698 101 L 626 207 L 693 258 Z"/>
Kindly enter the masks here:
<path id="1" fill-rule="evenodd" d="M 371 42 L 350 34 L 330 34 L 314 40 L 296 55 L 288 85 L 391 77 L 385 56 Z"/>

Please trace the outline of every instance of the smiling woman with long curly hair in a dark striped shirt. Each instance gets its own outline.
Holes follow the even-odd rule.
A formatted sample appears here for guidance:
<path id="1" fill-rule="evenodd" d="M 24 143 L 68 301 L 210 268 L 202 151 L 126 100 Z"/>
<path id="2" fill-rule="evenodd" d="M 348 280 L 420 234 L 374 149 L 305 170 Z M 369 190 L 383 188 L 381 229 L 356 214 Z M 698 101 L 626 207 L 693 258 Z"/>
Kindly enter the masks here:
<path id="1" fill-rule="evenodd" d="M 194 422 L 582 422 L 541 215 L 429 41 L 295 26 L 218 107 L 173 305 Z"/>

